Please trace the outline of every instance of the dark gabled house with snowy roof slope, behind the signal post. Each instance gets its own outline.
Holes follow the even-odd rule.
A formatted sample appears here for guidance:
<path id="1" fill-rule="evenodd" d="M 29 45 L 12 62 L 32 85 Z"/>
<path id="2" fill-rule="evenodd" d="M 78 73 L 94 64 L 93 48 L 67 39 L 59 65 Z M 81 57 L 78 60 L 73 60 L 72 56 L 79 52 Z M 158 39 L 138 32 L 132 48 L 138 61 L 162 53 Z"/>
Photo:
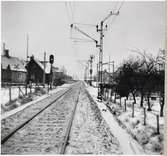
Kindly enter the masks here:
<path id="1" fill-rule="evenodd" d="M 43 73 L 45 72 L 45 82 L 49 83 L 50 81 L 50 70 L 51 65 L 49 62 L 45 62 L 45 70 L 44 70 L 44 61 L 39 61 L 34 58 L 34 56 L 30 57 L 30 61 L 26 65 L 27 69 L 27 79 L 28 82 L 33 83 L 43 83 Z M 57 67 L 52 68 L 53 71 L 53 79 L 55 78 L 55 73 L 58 71 Z"/>

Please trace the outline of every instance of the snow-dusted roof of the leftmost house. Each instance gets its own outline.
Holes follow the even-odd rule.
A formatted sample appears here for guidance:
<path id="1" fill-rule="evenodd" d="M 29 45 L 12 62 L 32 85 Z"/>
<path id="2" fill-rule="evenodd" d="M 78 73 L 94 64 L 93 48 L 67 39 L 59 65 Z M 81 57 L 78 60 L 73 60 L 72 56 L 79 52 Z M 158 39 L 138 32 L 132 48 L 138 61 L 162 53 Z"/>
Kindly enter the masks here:
<path id="1" fill-rule="evenodd" d="M 7 69 L 8 65 L 10 65 L 10 69 L 12 71 L 22 71 L 26 72 L 25 66 L 24 66 L 24 60 L 21 60 L 17 57 L 6 57 L 1 55 L 1 65 L 2 69 Z"/>

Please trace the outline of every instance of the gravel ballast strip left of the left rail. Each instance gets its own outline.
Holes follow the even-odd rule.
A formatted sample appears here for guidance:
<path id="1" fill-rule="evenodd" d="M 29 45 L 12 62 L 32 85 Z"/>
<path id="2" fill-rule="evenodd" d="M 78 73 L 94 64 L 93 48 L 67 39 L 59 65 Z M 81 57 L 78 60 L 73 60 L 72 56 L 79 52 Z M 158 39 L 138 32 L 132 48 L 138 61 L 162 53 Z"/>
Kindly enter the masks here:
<path id="1" fill-rule="evenodd" d="M 65 92 L 67 92 L 70 88 L 65 88 L 64 90 L 60 90 L 53 95 L 38 101 L 21 111 L 16 112 L 13 115 L 10 115 L 6 118 L 1 119 L 1 144 L 6 140 L 8 135 L 18 129 L 19 126 L 23 125 L 25 122 L 30 120 L 33 116 L 35 116 L 42 109 L 47 107 L 50 103 L 61 98 Z"/>

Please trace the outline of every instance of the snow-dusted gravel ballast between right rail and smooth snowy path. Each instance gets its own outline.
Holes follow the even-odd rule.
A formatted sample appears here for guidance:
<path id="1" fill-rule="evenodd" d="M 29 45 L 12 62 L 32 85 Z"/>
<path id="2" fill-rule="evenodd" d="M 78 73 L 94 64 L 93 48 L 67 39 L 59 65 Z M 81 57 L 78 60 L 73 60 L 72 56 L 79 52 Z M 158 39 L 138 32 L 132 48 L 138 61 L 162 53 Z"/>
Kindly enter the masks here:
<path id="1" fill-rule="evenodd" d="M 118 141 L 84 89 L 80 92 L 66 154 L 121 154 Z"/>

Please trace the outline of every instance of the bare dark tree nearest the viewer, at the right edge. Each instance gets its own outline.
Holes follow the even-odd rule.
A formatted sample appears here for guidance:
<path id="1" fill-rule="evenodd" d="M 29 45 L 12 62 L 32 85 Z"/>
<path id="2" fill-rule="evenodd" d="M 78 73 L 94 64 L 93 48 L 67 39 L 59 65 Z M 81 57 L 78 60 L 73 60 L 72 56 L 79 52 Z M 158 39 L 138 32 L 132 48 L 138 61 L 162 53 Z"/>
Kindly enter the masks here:
<path id="1" fill-rule="evenodd" d="M 132 52 L 138 53 L 142 58 L 142 66 L 139 69 L 139 83 L 140 87 L 139 90 L 141 92 L 141 103 L 140 105 L 143 106 L 143 97 L 147 97 L 147 103 L 148 103 L 148 111 L 151 111 L 151 104 L 150 104 L 150 95 L 152 92 L 159 91 L 161 95 L 164 95 L 164 83 L 163 83 L 163 73 L 160 74 L 160 71 L 157 71 L 157 65 L 164 64 L 165 60 L 164 53 L 160 52 L 156 57 L 153 57 L 150 54 L 147 54 L 145 50 L 139 50 L 139 49 L 132 49 Z M 163 65 L 164 66 L 164 65 Z M 157 75 L 159 74 L 159 75 Z M 162 79 L 161 81 L 157 79 Z M 161 84 L 160 84 L 161 83 Z M 157 87 L 158 86 L 158 87 Z M 157 90 L 158 89 L 158 90 Z M 162 100 L 163 101 L 163 100 Z M 162 102 L 164 103 L 164 102 Z M 164 104 L 161 104 L 163 107 Z"/>

